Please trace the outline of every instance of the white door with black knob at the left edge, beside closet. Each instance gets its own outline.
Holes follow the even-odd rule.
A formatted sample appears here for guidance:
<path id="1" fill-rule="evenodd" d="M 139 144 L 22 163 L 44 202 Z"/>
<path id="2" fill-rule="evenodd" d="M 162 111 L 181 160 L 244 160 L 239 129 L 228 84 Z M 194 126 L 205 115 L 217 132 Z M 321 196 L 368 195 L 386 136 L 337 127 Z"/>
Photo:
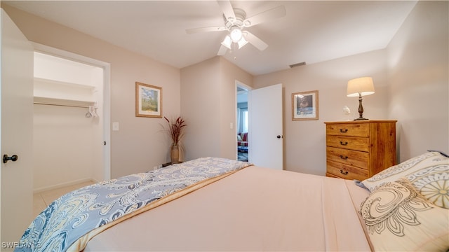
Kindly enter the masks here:
<path id="1" fill-rule="evenodd" d="M 1 9 L 1 248 L 32 221 L 33 48 Z M 4 162 L 4 155 L 18 160 Z M 11 250 L 11 249 L 6 249 Z"/>

